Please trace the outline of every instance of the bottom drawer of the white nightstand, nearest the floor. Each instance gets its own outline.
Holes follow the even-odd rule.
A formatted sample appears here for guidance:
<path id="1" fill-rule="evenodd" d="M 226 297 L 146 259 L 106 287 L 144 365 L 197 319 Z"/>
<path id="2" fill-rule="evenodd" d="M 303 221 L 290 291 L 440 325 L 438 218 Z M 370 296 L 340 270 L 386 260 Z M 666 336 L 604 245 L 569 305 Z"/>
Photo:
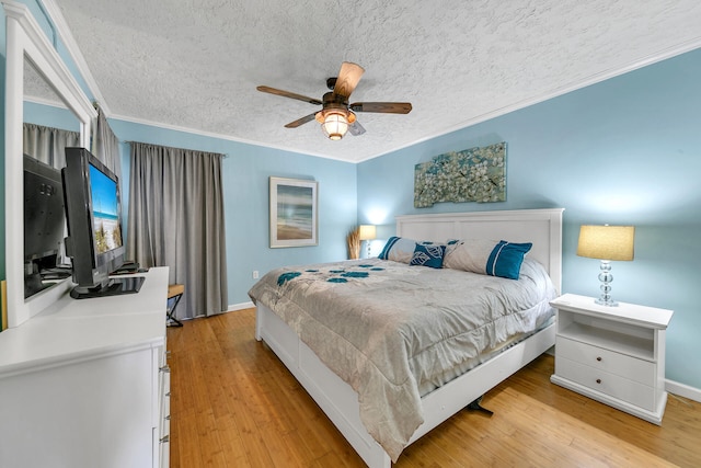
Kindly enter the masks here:
<path id="1" fill-rule="evenodd" d="M 648 411 L 655 410 L 655 388 L 558 355 L 555 375 Z"/>

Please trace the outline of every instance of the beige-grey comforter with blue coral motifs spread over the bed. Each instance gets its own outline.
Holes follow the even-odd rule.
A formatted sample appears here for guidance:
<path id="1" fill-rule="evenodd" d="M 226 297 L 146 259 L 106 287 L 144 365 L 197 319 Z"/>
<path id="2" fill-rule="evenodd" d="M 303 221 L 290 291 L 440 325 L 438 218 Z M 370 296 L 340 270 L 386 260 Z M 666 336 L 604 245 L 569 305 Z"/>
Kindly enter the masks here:
<path id="1" fill-rule="evenodd" d="M 541 328 L 555 288 L 529 259 L 518 281 L 371 259 L 274 270 L 249 295 L 353 387 L 397 461 L 424 421 L 421 396 Z"/>

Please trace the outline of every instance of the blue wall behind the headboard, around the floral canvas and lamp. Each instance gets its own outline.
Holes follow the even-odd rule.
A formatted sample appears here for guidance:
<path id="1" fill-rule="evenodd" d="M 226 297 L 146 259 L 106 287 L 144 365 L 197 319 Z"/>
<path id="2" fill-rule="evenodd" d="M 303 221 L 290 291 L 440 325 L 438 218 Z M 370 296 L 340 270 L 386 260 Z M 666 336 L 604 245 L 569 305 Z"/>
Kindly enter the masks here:
<path id="1" fill-rule="evenodd" d="M 634 225 L 635 259 L 613 262 L 613 296 L 675 310 L 667 378 L 701 388 L 699 77 L 701 49 L 366 161 L 358 221 L 387 237 L 395 215 L 564 207 L 563 292 L 589 296 L 599 265 L 575 254 L 579 225 Z M 507 202 L 413 207 L 414 164 L 498 141 Z"/>

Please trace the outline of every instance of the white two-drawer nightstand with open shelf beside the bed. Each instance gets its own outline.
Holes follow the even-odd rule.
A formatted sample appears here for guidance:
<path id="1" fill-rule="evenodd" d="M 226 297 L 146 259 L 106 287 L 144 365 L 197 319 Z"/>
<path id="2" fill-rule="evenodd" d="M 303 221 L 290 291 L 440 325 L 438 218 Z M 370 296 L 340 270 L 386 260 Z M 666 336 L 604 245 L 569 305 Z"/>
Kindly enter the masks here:
<path id="1" fill-rule="evenodd" d="M 555 373 L 570 390 L 662 424 L 665 391 L 665 331 L 673 311 L 565 294 L 558 309 Z"/>

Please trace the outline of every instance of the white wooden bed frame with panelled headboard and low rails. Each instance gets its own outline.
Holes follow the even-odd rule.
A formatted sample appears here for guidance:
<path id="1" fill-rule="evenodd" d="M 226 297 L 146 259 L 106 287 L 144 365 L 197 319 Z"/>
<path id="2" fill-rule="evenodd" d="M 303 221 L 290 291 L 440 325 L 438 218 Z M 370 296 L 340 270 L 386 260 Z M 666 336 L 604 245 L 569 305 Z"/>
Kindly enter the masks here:
<path id="1" fill-rule="evenodd" d="M 533 242 L 528 255 L 543 264 L 560 292 L 562 213 L 563 208 L 553 208 L 398 216 L 397 235 L 434 241 L 504 239 Z M 256 309 L 255 338 L 268 344 L 369 467 L 391 467 L 390 456 L 360 422 L 357 393 L 331 372 L 281 319 L 262 305 Z M 550 326 L 423 397 L 425 421 L 410 444 L 554 343 L 554 326 Z"/>

